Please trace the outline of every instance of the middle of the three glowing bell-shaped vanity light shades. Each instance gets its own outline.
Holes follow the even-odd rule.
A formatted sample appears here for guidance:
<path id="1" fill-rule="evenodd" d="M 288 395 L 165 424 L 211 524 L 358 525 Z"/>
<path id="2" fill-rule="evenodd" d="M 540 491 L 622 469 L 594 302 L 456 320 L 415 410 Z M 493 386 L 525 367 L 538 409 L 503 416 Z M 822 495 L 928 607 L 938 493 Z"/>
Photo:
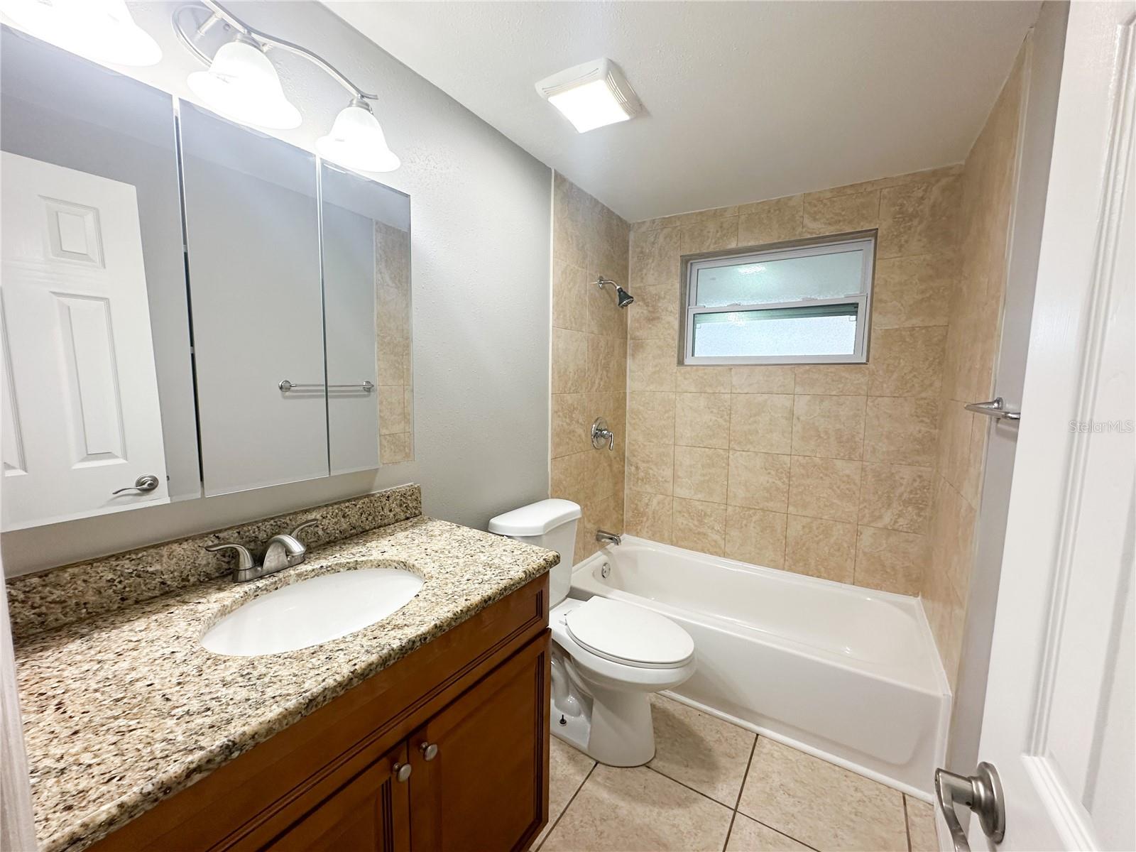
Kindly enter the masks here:
<path id="1" fill-rule="evenodd" d="M 186 82 L 206 105 L 235 122 L 291 130 L 302 120 L 284 97 L 272 60 L 248 41 L 223 44 L 209 70 L 194 72 Z"/>

